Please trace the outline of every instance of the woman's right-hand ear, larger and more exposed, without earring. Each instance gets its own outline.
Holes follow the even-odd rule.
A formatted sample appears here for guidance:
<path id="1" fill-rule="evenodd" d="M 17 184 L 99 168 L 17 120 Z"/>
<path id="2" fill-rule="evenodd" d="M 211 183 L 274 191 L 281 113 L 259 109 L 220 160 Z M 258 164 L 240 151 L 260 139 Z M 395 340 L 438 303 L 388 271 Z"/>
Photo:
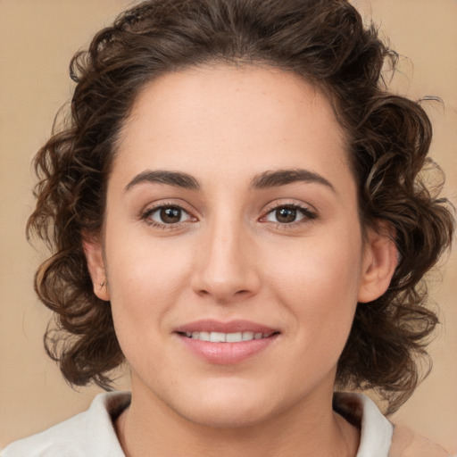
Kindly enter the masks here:
<path id="1" fill-rule="evenodd" d="M 395 229 L 386 221 L 378 229 L 368 228 L 363 253 L 358 301 L 371 302 L 383 295 L 390 285 L 398 262 Z"/>

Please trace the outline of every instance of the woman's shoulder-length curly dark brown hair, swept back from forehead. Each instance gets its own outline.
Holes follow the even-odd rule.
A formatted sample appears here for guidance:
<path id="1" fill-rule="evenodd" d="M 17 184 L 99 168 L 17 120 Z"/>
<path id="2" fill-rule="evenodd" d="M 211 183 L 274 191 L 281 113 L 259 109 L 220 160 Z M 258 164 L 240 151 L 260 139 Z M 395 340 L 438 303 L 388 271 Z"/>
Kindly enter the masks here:
<path id="1" fill-rule="evenodd" d="M 453 215 L 423 170 L 432 129 L 420 104 L 386 90 L 396 54 L 345 0 L 150 0 L 120 14 L 71 61 L 77 85 L 66 123 L 37 153 L 37 206 L 28 223 L 52 250 L 36 290 L 55 312 L 47 353 L 73 385 L 110 388 L 123 361 L 110 306 L 93 292 L 84 233 L 104 223 L 106 182 L 123 122 L 140 89 L 204 63 L 267 64 L 319 87 L 349 138 L 362 227 L 386 220 L 399 262 L 390 287 L 359 304 L 337 384 L 374 388 L 395 411 L 420 381 L 437 317 L 424 274 L 451 244 Z"/>

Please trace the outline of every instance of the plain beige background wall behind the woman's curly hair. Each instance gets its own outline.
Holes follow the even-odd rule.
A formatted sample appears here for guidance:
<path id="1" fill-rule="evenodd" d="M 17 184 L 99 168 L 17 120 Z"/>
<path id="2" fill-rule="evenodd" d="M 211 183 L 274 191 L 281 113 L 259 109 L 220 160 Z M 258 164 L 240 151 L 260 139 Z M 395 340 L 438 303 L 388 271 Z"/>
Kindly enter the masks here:
<path id="1" fill-rule="evenodd" d="M 42 348 L 49 313 L 32 290 L 42 255 L 24 237 L 33 204 L 29 162 L 54 113 L 71 96 L 71 55 L 112 21 L 127 0 L 0 0 L 0 447 L 87 408 L 95 388 L 74 392 Z M 381 25 L 403 60 L 393 87 L 427 106 L 432 156 L 457 204 L 457 1 L 355 1 Z M 434 370 L 394 420 L 457 453 L 457 250 L 433 276 L 444 326 L 431 345 Z M 120 387 L 127 386 L 120 380 Z"/>

